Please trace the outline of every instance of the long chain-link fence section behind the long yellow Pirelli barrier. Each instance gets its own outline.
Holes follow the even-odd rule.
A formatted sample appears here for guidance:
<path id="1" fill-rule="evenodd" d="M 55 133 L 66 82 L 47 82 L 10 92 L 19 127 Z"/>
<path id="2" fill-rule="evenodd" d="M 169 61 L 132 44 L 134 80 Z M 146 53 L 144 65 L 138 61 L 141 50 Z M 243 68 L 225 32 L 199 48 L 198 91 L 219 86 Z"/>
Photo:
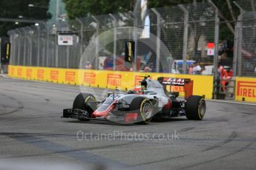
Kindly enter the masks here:
<path id="1" fill-rule="evenodd" d="M 193 74 L 189 67 L 195 62 L 202 69 L 217 65 L 217 52 L 209 54 L 207 49 L 209 43 L 217 49 L 217 19 L 216 7 L 205 1 L 22 27 L 9 31 L 10 64 L 120 71 L 150 67 L 146 71 Z M 75 33 L 77 40 L 71 46 L 58 45 L 58 33 Z M 125 41 L 135 42 L 135 66 L 125 64 Z"/>

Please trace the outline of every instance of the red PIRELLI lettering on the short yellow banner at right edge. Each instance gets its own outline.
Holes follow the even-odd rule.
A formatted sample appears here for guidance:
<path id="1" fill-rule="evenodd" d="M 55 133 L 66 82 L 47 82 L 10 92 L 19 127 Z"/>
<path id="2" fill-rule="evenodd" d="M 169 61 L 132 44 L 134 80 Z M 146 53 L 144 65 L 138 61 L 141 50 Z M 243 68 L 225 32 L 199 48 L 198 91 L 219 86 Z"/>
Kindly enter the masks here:
<path id="1" fill-rule="evenodd" d="M 256 81 L 237 81 L 237 96 L 256 98 Z"/>

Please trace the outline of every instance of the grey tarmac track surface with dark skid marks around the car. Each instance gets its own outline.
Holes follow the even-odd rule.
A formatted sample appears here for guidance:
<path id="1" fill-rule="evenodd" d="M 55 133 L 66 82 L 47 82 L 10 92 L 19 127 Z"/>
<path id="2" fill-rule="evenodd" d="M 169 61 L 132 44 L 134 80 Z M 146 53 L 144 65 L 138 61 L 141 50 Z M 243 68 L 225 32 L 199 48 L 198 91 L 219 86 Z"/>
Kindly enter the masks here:
<path id="1" fill-rule="evenodd" d="M 101 98 L 106 93 L 83 89 Z M 50 163 L 85 169 L 256 169 L 255 105 L 206 101 L 202 121 L 180 117 L 148 125 L 60 118 L 79 92 L 78 86 L 0 77 L 0 169 L 16 162 L 45 169 Z"/>

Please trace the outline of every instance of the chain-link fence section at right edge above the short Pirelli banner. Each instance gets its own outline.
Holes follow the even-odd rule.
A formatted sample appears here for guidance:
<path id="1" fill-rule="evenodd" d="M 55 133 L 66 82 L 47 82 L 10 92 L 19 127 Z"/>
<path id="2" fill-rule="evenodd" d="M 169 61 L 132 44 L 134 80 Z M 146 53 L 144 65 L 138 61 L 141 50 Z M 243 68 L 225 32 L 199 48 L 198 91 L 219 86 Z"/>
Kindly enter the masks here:
<path id="1" fill-rule="evenodd" d="M 240 16 L 237 19 L 234 67 L 237 75 L 256 76 L 256 2 L 237 1 Z"/>

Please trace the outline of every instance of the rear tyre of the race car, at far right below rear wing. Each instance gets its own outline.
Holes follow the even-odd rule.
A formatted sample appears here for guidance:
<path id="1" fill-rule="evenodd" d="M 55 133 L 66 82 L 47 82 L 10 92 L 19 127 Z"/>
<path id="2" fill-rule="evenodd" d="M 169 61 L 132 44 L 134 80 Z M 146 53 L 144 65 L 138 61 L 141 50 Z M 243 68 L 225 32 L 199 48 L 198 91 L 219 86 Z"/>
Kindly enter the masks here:
<path id="1" fill-rule="evenodd" d="M 188 120 L 203 120 L 206 113 L 206 101 L 202 96 L 191 95 L 186 102 L 185 111 Z"/>

